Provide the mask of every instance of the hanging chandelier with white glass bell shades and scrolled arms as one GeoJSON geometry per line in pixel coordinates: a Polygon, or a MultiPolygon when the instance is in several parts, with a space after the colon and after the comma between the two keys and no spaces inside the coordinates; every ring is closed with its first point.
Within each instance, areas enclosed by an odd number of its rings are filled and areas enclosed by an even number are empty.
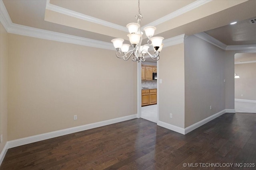
{"type": "Polygon", "coordinates": [[[142,34],[143,32],[140,30],[140,21],[142,20],[142,15],[140,14],[140,0],[138,0],[138,8],[139,8],[139,15],[136,15],[135,18],[137,19],[137,23],[128,23],[126,27],[129,30],[129,37],[130,43],[132,45],[132,50],[129,51],[129,44],[123,44],[124,39],[116,38],[112,39],[111,42],[114,44],[116,48],[116,57],[123,58],[125,61],[130,59],[133,54],[132,61],[140,62],[145,61],[145,55],[148,54],[153,60],[159,60],[159,53],[162,50],[164,44],[162,44],[163,37],[153,37],[156,27],[145,27],[143,30],[148,37],[148,44],[141,45],[142,43],[142,34]],[[154,55],[151,55],[148,52],[148,48],[150,46],[154,47],[154,55]],[[121,56],[121,51],[124,54],[121,56]]]}

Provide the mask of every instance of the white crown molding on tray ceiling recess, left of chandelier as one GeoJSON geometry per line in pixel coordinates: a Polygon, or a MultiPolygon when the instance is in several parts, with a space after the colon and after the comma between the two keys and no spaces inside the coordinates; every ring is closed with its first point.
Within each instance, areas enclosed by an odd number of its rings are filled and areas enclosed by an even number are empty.
{"type": "Polygon", "coordinates": [[[128,29],[124,26],[121,26],[121,25],[118,25],[118,24],[115,24],[115,23],[111,23],[111,22],[108,22],[108,21],[100,20],[100,19],[94,18],[92,16],[87,16],[87,15],[81,14],[79,12],[75,12],[75,11],[72,11],[72,10],[68,10],[66,8],[62,8],[60,6],[50,4],[50,0],[46,0],[46,9],[47,10],[52,10],[52,11],[55,11],[55,12],[58,12],[58,13],[61,13],[61,14],[64,14],[64,15],[72,16],[72,17],[75,17],[75,18],[78,18],[78,19],[81,19],[81,20],[97,23],[97,24],[100,24],[100,25],[104,25],[104,26],[107,26],[107,27],[111,27],[111,28],[114,28],[114,29],[118,29],[118,30],[121,30],[121,31],[128,32],[128,29]]]}

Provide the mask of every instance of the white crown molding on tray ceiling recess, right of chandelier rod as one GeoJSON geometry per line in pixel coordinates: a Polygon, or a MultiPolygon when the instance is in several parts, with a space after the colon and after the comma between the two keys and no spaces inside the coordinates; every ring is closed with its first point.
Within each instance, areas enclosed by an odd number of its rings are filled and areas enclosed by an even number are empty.
{"type": "Polygon", "coordinates": [[[164,22],[171,20],[172,18],[175,18],[177,16],[180,16],[190,10],[198,8],[199,6],[202,6],[210,1],[212,1],[212,0],[197,0],[195,2],[192,2],[191,4],[188,4],[187,6],[184,6],[184,7],[180,8],[162,18],[159,18],[158,20],[148,23],[147,25],[143,26],[142,29],[144,29],[144,27],[156,26],[156,25],[159,25],[160,23],[164,23],[164,22]]]}

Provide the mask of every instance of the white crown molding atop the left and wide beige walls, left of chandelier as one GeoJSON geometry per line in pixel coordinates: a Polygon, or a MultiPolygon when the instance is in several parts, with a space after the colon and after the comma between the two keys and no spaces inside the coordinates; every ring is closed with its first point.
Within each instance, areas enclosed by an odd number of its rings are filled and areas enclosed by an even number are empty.
{"type": "Polygon", "coordinates": [[[48,39],[52,41],[60,41],[64,43],[84,45],[88,47],[96,47],[96,48],[108,49],[108,50],[114,50],[114,51],[116,50],[114,49],[112,43],[12,23],[12,20],[2,0],[0,0],[0,5],[1,5],[0,21],[8,33],[25,35],[25,36],[35,37],[40,39],[48,39]]]}

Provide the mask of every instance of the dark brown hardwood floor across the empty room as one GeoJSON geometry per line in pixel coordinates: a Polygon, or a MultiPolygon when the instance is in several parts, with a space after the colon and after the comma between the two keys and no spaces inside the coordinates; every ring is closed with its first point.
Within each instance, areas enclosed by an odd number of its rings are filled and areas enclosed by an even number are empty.
{"type": "Polygon", "coordinates": [[[244,167],[250,163],[256,163],[256,114],[225,113],[186,135],[132,119],[23,145],[8,149],[0,169],[255,170],[244,167]]]}

